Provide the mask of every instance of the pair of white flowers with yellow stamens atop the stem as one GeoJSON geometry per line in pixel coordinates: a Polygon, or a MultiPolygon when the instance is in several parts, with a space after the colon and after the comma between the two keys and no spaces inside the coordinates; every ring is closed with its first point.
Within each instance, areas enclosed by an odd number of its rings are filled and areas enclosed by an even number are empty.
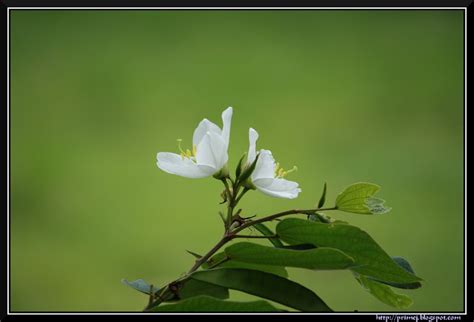
{"type": "MultiPolygon", "coordinates": [[[[208,119],[202,120],[194,130],[192,150],[184,151],[180,146],[181,154],[159,152],[156,156],[158,167],[186,178],[205,178],[220,172],[229,159],[232,112],[232,107],[222,112],[222,130],[208,119]]],[[[246,166],[255,161],[257,139],[257,131],[250,128],[246,166]]],[[[262,149],[250,179],[258,190],[269,196],[294,199],[301,189],[298,183],[283,178],[290,171],[284,171],[275,163],[271,151],[262,149]]]]}

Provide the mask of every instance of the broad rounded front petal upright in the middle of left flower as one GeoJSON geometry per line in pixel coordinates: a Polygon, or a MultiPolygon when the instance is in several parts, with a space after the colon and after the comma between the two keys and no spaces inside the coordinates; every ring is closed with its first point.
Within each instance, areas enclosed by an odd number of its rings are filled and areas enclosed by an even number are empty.
{"type": "Polygon", "coordinates": [[[213,168],[217,172],[227,163],[228,154],[222,137],[207,132],[197,146],[196,163],[213,168]]]}

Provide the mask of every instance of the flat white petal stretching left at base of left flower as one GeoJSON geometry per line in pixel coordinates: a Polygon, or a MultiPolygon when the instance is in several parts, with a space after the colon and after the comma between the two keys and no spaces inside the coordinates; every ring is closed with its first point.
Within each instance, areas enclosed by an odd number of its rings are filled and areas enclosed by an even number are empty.
{"type": "Polygon", "coordinates": [[[156,155],[156,165],[163,171],[186,178],[205,178],[212,175],[213,169],[198,166],[188,158],[179,154],[159,152],[156,155]]]}

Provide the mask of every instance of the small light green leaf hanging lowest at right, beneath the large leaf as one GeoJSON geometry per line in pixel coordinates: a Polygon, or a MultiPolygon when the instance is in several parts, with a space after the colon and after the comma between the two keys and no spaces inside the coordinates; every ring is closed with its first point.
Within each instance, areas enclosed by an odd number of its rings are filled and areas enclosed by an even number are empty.
{"type": "Polygon", "coordinates": [[[370,294],[387,305],[406,309],[413,304],[413,300],[410,297],[395,293],[390,286],[369,279],[364,275],[356,276],[356,279],[370,294]]]}

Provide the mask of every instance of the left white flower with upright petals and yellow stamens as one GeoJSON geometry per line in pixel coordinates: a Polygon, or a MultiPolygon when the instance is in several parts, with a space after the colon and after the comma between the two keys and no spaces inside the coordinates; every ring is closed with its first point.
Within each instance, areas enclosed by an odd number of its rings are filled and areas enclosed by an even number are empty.
{"type": "Polygon", "coordinates": [[[231,120],[232,107],[222,112],[222,130],[208,119],[202,120],[194,130],[192,151],[183,151],[180,145],[181,154],[159,152],[156,164],[165,172],[186,178],[205,178],[217,173],[229,158],[231,120]]]}

